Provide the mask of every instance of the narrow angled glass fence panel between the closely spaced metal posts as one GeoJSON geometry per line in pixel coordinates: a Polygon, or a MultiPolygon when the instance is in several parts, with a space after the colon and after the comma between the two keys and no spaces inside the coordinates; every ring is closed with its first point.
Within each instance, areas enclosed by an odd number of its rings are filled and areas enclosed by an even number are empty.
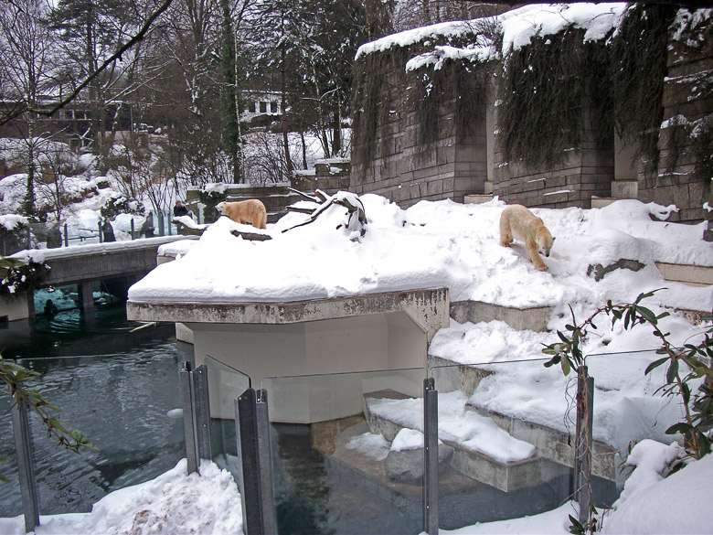
{"type": "Polygon", "coordinates": [[[250,377],[208,355],[204,363],[208,368],[210,442],[213,461],[237,477],[239,471],[234,400],[250,388],[250,377]]]}

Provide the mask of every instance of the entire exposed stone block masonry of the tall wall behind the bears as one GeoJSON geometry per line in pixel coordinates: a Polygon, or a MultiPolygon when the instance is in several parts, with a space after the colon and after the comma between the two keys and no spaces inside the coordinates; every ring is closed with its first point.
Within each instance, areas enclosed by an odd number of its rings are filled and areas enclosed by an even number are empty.
{"type": "MultiPolygon", "coordinates": [[[[414,48],[414,55],[421,49],[414,48]]],[[[448,64],[442,67],[448,68],[448,64]]],[[[698,120],[713,115],[713,99],[701,90],[710,84],[711,72],[713,40],[702,39],[697,48],[671,41],[660,160],[654,172],[647,173],[645,162],[634,157],[635,147],[623,146],[613,132],[602,141],[586,107],[582,110],[580,147],[572,148],[561,164],[531,168],[505,161],[498,146],[495,82],[486,91],[484,116],[467,117],[465,121],[455,86],[439,88],[450,92],[435,113],[437,134],[425,143],[419,112],[406,96],[413,73],[396,69],[389,74],[388,91],[380,95],[379,105],[388,113],[377,113],[375,139],[367,142],[371,146],[360,144],[357,133],[353,136],[350,189],[357,194],[378,193],[407,208],[421,199],[463,201],[466,195],[486,193],[485,187],[490,192],[492,184],[492,193],[508,203],[589,209],[592,198],[616,198],[615,193],[621,190],[615,187],[612,191],[616,180],[618,184],[627,183],[625,198],[676,204],[680,210],[669,220],[699,221],[706,217],[704,202],[713,205],[711,177],[701,176],[703,156],[691,131],[698,120]],[[671,121],[675,118],[680,119],[679,124],[666,127],[675,123],[671,121]],[[669,136],[681,133],[691,139],[691,144],[671,151],[669,136]]],[[[358,108],[359,102],[356,104],[358,108]]]]}

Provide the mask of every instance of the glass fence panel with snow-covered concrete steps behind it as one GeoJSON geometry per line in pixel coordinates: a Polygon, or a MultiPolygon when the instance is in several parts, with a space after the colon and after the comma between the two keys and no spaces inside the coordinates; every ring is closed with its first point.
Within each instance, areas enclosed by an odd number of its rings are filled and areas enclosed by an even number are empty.
{"type": "Polygon", "coordinates": [[[571,496],[576,379],[546,360],[430,369],[439,392],[439,525],[517,519],[571,496]]]}

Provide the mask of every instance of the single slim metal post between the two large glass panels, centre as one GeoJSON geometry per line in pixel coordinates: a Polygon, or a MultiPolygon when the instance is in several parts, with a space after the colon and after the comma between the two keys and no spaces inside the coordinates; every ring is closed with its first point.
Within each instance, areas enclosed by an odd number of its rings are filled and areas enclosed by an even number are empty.
{"type": "Polygon", "coordinates": [[[438,534],[438,391],[423,380],[423,528],[438,534]]]}

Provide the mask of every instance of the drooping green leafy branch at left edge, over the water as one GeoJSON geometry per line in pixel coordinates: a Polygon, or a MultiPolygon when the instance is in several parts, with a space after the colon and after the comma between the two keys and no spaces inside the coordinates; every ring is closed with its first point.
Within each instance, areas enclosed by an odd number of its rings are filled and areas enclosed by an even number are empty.
{"type": "MultiPolygon", "coordinates": [[[[67,427],[68,422],[59,420],[58,413],[62,411],[59,407],[50,405],[38,391],[27,386],[39,375],[37,371],[0,357],[0,382],[5,384],[6,393],[13,402],[26,402],[30,412],[39,418],[48,436],[60,446],[75,453],[79,453],[82,447],[91,447],[90,440],[86,436],[79,431],[70,430],[67,427]]],[[[5,460],[0,459],[0,462],[5,460]]],[[[7,478],[0,474],[0,481],[7,481],[7,478]]]]}

